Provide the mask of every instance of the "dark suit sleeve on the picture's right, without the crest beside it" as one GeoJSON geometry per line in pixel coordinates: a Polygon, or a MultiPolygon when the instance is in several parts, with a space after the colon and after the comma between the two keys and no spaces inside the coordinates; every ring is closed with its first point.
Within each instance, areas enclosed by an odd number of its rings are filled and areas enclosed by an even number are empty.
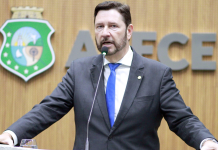
{"type": "Polygon", "coordinates": [[[160,104],[170,130],[188,145],[199,149],[202,140],[214,138],[202,122],[193,115],[191,109],[185,105],[173,81],[170,68],[166,68],[162,77],[160,104]]]}

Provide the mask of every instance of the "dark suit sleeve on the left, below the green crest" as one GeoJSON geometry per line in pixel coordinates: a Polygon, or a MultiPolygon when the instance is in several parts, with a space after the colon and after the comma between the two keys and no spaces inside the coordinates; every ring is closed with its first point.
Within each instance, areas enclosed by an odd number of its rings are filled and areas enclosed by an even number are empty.
{"type": "Polygon", "coordinates": [[[73,107],[74,76],[73,63],[62,82],[58,84],[51,95],[46,96],[32,110],[12,124],[7,130],[13,131],[18,143],[21,139],[33,138],[54,122],[62,118],[73,107]]]}

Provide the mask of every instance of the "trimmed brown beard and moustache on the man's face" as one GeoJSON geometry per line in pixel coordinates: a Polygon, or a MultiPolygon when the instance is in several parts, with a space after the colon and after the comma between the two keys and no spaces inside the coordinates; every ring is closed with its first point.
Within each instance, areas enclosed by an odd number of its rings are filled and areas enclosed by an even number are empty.
{"type": "Polygon", "coordinates": [[[96,43],[96,46],[97,46],[98,51],[100,53],[101,53],[102,45],[105,42],[110,42],[111,44],[113,44],[115,49],[108,51],[108,53],[107,53],[107,56],[110,56],[110,55],[113,55],[113,54],[117,53],[118,51],[122,50],[126,46],[126,43],[127,43],[126,40],[127,40],[127,33],[125,32],[125,35],[121,38],[121,41],[119,43],[114,41],[114,40],[109,40],[108,37],[103,38],[103,40],[100,41],[100,43],[98,43],[96,38],[95,38],[95,43],[96,43]]]}

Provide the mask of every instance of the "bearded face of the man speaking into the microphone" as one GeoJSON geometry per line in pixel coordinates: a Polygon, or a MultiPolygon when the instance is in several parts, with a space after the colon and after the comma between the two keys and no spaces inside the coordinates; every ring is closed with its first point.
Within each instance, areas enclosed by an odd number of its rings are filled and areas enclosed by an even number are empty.
{"type": "Polygon", "coordinates": [[[95,18],[95,41],[98,50],[108,47],[108,56],[122,50],[127,43],[127,30],[121,14],[115,10],[100,10],[95,18]]]}

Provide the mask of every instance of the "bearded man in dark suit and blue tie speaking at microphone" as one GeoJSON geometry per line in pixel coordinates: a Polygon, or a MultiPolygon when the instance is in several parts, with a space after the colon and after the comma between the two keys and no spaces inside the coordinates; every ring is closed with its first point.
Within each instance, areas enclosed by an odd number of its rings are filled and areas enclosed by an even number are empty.
{"type": "Polygon", "coordinates": [[[15,144],[22,138],[32,138],[74,107],[74,149],[83,150],[92,98],[104,62],[89,125],[90,150],[158,150],[157,129],[163,117],[190,146],[218,150],[213,135],[184,104],[171,69],[130,47],[133,25],[129,6],[103,2],[96,6],[94,16],[97,47],[108,47],[104,61],[98,55],[72,62],[53,93],[10,126],[0,141],[13,145],[12,136],[18,140],[15,144]],[[116,69],[112,69],[114,65],[116,69]]]}

